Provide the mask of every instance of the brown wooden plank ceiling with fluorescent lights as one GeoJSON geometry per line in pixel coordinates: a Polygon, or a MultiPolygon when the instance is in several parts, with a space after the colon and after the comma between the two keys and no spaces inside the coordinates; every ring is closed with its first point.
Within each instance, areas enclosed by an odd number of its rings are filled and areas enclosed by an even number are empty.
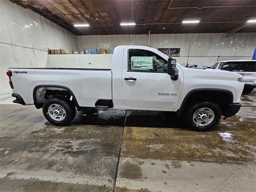
{"type": "Polygon", "coordinates": [[[256,32],[255,23],[246,23],[256,18],[256,0],[10,1],[76,35],[256,32]],[[182,24],[183,20],[200,23],[182,24]],[[136,26],[120,26],[121,22],[136,26]],[[90,26],[73,26],[80,23],[90,26]]]}

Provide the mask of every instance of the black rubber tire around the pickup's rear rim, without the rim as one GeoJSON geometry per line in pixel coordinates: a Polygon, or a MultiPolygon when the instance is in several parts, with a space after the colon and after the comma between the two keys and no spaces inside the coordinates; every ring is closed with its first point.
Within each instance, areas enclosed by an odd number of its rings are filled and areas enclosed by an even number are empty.
{"type": "Polygon", "coordinates": [[[46,100],[46,102],[43,104],[43,114],[44,117],[50,122],[51,124],[57,125],[57,126],[64,126],[69,124],[76,115],[76,110],[74,107],[72,107],[71,104],[67,103],[66,101],[60,99],[60,98],[50,98],[46,100]],[[50,114],[48,113],[48,108],[52,104],[58,104],[65,110],[65,116],[63,120],[54,120],[50,114]]]}

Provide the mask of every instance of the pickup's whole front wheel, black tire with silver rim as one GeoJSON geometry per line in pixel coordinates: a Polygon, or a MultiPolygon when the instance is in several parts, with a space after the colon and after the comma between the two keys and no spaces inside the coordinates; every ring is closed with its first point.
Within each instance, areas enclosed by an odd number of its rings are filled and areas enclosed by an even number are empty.
{"type": "Polygon", "coordinates": [[[188,127],[205,131],[218,124],[221,118],[220,107],[213,102],[200,102],[189,108],[186,114],[188,127]]]}

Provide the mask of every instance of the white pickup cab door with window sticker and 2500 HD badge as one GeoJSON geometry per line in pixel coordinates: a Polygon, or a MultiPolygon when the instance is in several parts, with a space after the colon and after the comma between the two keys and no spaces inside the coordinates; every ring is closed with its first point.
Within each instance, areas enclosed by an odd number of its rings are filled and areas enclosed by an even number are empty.
{"type": "Polygon", "coordinates": [[[172,81],[167,60],[152,49],[126,48],[122,71],[122,100],[130,107],[174,109],[182,90],[182,77],[172,81]]]}

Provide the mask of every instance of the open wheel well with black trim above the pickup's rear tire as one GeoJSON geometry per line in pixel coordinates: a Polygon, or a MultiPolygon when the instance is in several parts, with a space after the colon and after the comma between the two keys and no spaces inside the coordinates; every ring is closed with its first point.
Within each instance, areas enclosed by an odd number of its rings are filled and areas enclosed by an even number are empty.
{"type": "Polygon", "coordinates": [[[33,91],[34,105],[36,108],[42,108],[43,103],[49,98],[62,98],[70,103],[73,103],[77,110],[81,107],[73,94],[73,92],[64,86],[36,86],[33,91]]]}

